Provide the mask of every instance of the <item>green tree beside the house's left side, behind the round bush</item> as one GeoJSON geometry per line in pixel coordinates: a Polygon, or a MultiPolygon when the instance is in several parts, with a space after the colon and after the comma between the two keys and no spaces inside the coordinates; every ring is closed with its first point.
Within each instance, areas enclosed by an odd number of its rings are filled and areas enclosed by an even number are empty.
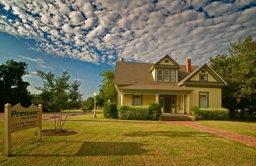
{"type": "Polygon", "coordinates": [[[116,103],[117,100],[117,93],[113,83],[115,77],[114,70],[105,70],[104,72],[100,73],[99,77],[103,77],[101,80],[102,84],[99,86],[99,97],[103,100],[104,103],[114,102],[116,103]]]}

